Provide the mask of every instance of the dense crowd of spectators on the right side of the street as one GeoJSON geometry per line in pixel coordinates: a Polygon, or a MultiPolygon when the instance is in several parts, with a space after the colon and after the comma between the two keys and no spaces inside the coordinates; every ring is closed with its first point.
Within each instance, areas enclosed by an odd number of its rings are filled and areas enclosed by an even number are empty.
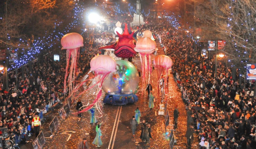
{"type": "Polygon", "coordinates": [[[194,41],[184,41],[175,29],[163,29],[159,39],[173,60],[173,75],[187,104],[187,134],[194,133],[200,148],[256,148],[254,81],[239,84],[239,73],[232,74],[221,62],[215,77],[214,57],[202,57],[194,41]]]}

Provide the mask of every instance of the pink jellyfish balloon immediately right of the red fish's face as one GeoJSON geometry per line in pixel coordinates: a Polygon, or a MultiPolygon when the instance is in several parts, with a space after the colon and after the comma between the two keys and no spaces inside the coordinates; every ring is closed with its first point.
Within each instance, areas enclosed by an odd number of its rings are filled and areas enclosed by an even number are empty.
{"type": "MultiPolygon", "coordinates": [[[[151,32],[150,32],[151,33],[151,32]]],[[[134,48],[136,52],[139,52],[140,59],[141,59],[141,67],[142,67],[142,82],[143,85],[145,81],[150,81],[150,74],[151,70],[151,54],[158,50],[156,48],[156,43],[149,37],[140,38],[137,43],[136,47],[134,48]]],[[[144,89],[145,90],[145,89],[144,89]]]]}

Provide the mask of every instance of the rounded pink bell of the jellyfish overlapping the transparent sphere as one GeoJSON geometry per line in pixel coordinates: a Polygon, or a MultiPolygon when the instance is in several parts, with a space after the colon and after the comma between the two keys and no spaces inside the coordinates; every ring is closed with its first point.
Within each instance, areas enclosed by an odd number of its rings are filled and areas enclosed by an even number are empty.
{"type": "Polygon", "coordinates": [[[91,71],[98,74],[114,72],[116,70],[115,60],[108,55],[98,55],[92,58],[90,62],[91,71]]]}

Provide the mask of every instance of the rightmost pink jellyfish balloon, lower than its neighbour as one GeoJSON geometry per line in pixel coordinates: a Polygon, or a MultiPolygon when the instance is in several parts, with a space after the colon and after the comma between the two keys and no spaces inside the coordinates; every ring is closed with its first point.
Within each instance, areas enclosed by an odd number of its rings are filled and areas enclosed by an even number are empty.
{"type": "MultiPolygon", "coordinates": [[[[164,82],[167,82],[168,77],[168,69],[170,69],[173,65],[173,61],[169,56],[166,55],[157,55],[153,60],[153,65],[157,71],[157,80],[158,80],[158,98],[159,98],[159,84],[161,76],[163,75],[164,82]]],[[[165,84],[163,84],[165,88],[165,84]]],[[[165,88],[166,89],[166,88],[165,88]]],[[[160,101],[160,100],[159,100],[160,101]]]]}

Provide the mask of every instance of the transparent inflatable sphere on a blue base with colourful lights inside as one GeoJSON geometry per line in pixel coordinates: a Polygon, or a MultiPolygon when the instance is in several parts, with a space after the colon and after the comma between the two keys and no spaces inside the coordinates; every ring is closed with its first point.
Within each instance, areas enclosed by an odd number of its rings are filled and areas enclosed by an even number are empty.
{"type": "Polygon", "coordinates": [[[110,73],[102,85],[102,89],[106,92],[103,103],[133,104],[138,101],[138,97],[134,94],[138,83],[139,74],[135,66],[125,60],[116,60],[116,72],[110,73]]]}

